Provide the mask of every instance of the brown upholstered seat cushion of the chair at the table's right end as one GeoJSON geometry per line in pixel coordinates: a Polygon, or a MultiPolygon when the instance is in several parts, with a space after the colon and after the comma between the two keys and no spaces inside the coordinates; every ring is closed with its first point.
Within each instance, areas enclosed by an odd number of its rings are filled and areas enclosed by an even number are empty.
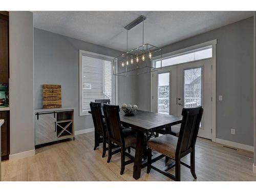
{"type": "Polygon", "coordinates": [[[167,157],[175,159],[178,137],[165,134],[147,141],[147,147],[167,157]]]}

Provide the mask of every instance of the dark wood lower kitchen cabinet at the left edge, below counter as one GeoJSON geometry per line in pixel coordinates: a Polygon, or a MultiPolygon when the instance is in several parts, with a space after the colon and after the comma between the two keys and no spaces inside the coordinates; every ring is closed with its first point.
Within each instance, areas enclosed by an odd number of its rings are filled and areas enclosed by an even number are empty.
{"type": "Polygon", "coordinates": [[[1,127],[1,156],[2,161],[9,159],[10,155],[10,113],[9,111],[0,111],[0,119],[5,122],[1,127]]]}

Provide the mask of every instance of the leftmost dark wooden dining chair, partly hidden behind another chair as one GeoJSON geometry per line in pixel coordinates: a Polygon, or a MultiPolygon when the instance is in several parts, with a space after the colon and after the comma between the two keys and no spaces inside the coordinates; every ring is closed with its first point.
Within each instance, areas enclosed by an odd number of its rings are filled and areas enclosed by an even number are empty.
{"type": "Polygon", "coordinates": [[[93,124],[94,124],[94,150],[102,142],[103,152],[102,157],[106,154],[106,124],[103,121],[101,112],[101,104],[99,102],[90,102],[90,108],[92,112],[93,124]]]}

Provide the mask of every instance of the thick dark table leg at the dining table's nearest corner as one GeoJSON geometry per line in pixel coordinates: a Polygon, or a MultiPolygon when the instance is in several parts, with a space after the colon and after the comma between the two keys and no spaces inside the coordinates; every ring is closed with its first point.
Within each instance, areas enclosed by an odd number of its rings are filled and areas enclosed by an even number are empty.
{"type": "Polygon", "coordinates": [[[136,151],[135,151],[135,160],[133,166],[133,178],[139,179],[141,172],[141,162],[142,162],[142,154],[144,148],[144,133],[137,133],[137,142],[136,142],[136,151]]]}

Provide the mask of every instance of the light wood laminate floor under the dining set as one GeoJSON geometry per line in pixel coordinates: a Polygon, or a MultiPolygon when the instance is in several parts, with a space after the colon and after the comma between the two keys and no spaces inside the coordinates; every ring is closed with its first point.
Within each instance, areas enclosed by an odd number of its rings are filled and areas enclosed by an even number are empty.
{"type": "MultiPolygon", "coordinates": [[[[56,143],[38,148],[36,155],[2,163],[3,181],[135,181],[133,164],[126,165],[120,175],[120,153],[106,163],[102,145],[93,151],[94,133],[76,136],[76,140],[56,143]]],[[[132,152],[133,153],[133,152],[132,152]]],[[[189,164],[189,155],[182,159],[189,164]]],[[[164,166],[164,159],[156,162],[164,166]]],[[[181,165],[181,181],[256,181],[252,173],[253,153],[233,151],[205,139],[196,144],[196,174],[181,165]]],[[[170,170],[174,173],[174,169],[170,170]]],[[[146,174],[142,169],[137,181],[172,181],[155,170],[146,174]]]]}

